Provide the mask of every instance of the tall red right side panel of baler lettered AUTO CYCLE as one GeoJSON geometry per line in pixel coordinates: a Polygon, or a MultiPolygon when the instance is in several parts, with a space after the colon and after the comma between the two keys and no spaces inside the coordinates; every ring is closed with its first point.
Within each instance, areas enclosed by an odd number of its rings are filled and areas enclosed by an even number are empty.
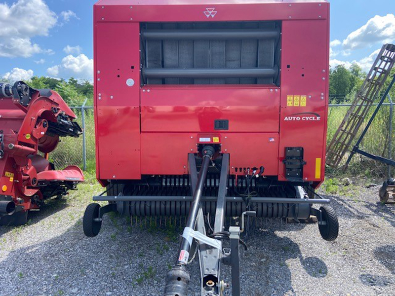
{"type": "Polygon", "coordinates": [[[284,21],[282,30],[278,179],[286,180],[285,147],[303,147],[303,179],[320,182],[328,105],[328,21],[284,21]]]}

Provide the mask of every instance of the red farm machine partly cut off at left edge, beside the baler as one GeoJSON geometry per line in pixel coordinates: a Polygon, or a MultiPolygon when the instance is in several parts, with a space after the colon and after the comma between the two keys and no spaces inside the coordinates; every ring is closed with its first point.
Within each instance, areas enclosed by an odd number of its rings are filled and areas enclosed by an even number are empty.
{"type": "Polygon", "coordinates": [[[29,210],[83,182],[77,166],[55,170],[48,155],[59,137],[79,137],[76,114],[60,95],[22,81],[0,83],[0,224],[23,225],[29,210]]]}

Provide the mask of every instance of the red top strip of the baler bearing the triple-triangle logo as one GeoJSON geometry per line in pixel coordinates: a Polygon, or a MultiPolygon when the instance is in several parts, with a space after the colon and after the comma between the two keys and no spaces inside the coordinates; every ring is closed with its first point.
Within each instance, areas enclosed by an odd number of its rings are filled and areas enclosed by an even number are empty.
{"type": "Polygon", "coordinates": [[[95,8],[98,22],[205,22],[324,19],[329,3],[316,1],[102,1],[95,8]],[[171,4],[171,5],[168,5],[171,4]],[[242,4],[242,5],[240,5],[242,4]],[[215,15],[204,12],[215,8],[215,15]]]}

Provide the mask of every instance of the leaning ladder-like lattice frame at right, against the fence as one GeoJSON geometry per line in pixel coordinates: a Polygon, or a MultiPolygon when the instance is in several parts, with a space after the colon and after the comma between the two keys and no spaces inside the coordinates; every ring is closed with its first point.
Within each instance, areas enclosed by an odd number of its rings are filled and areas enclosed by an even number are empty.
{"type": "Polygon", "coordinates": [[[346,152],[350,149],[356,133],[362,125],[370,107],[395,64],[395,45],[383,45],[361,89],[347,111],[342,123],[330,142],[326,152],[326,164],[339,167],[346,152]]]}

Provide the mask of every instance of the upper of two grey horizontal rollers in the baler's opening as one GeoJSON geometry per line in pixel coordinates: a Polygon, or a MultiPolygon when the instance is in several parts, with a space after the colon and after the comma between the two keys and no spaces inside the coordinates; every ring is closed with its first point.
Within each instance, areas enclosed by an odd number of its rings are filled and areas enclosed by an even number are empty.
{"type": "Polygon", "coordinates": [[[213,30],[145,30],[141,36],[146,40],[234,40],[277,39],[279,29],[213,29],[213,30]]]}

